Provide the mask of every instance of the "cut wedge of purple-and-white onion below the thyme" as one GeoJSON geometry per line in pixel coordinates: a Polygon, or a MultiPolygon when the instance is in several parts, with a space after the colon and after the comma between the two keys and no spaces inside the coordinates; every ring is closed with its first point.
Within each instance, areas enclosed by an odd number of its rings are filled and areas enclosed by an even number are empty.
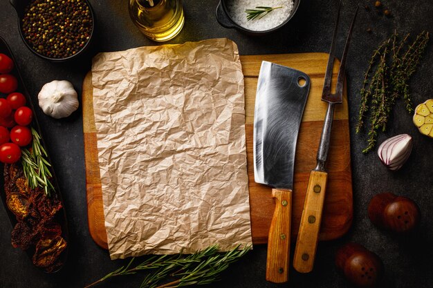
{"type": "Polygon", "coordinates": [[[405,164],[412,152],[412,137],[407,134],[396,135],[385,140],[378,148],[380,161],[392,171],[405,164]]]}

